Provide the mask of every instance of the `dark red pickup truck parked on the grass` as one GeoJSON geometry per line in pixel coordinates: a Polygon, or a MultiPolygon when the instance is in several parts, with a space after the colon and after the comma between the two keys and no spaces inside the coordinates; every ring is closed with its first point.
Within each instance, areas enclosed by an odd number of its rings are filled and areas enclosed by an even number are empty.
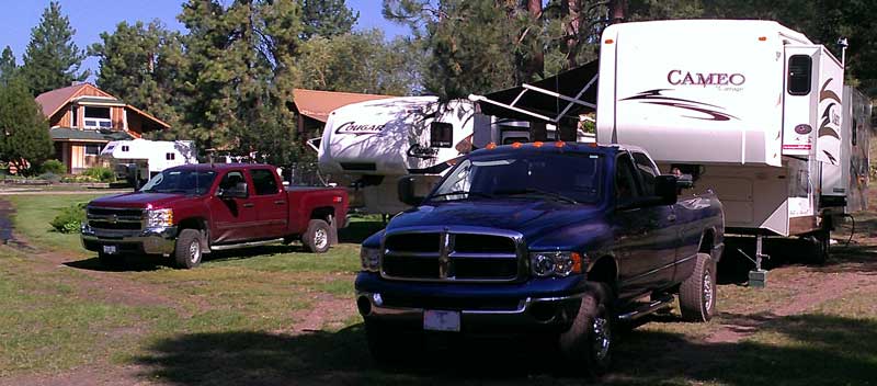
{"type": "Polygon", "coordinates": [[[348,205],[344,189],[284,188],[270,164],[186,164],[137,192],[90,202],[82,246],[106,265],[148,254],[186,269],[210,251],[277,241],[300,239],[321,253],[338,242],[348,205]]]}

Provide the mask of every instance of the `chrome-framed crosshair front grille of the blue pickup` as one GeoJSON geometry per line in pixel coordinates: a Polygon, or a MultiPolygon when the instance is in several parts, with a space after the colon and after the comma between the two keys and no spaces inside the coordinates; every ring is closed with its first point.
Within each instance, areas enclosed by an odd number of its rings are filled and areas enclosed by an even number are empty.
{"type": "Polygon", "coordinates": [[[391,234],[381,275],[390,280],[512,282],[523,272],[521,237],[454,231],[391,234]]]}

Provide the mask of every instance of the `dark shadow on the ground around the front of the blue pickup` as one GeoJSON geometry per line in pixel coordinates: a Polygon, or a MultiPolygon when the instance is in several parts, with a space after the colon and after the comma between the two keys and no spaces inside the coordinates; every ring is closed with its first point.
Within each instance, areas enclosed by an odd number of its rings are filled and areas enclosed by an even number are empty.
{"type": "MultiPolygon", "coordinates": [[[[748,318],[748,316],[739,316],[748,318]]],[[[671,332],[634,330],[620,338],[608,384],[854,384],[877,379],[877,323],[833,316],[775,317],[762,331],[778,338],[705,343],[671,332]],[[778,342],[768,344],[767,342],[778,342]]],[[[362,325],[300,336],[265,332],[183,334],[136,357],[145,379],[174,385],[581,384],[557,377],[553,351],[521,340],[471,341],[412,355],[378,370],[362,325]]]]}

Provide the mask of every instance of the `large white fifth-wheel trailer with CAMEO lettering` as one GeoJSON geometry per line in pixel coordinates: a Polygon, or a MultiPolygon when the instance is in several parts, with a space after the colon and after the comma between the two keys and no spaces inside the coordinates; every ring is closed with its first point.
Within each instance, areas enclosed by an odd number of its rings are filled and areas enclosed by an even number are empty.
{"type": "Polygon", "coordinates": [[[816,241],[867,203],[870,104],[824,46],[770,21],[623,23],[602,37],[597,141],[715,191],[728,232],[816,241]]]}

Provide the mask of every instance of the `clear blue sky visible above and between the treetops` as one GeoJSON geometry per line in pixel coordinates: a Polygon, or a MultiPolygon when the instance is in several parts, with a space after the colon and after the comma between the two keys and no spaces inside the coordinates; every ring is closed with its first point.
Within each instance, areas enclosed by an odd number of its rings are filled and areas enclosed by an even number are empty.
{"type": "MultiPolygon", "coordinates": [[[[224,0],[230,2],[231,0],[224,0]]],[[[128,23],[138,20],[161,20],[168,27],[181,30],[183,25],[176,21],[183,0],[60,0],[61,11],[70,19],[76,29],[73,41],[80,48],[86,48],[100,41],[104,31],[115,31],[122,21],[128,23]]],[[[0,12],[0,49],[7,45],[18,57],[21,57],[31,39],[31,29],[39,22],[48,0],[4,0],[0,12]]],[[[408,27],[390,23],[380,15],[380,0],[348,0],[348,7],[360,11],[357,30],[379,29],[388,38],[408,34],[408,27]]],[[[89,58],[84,67],[92,71],[98,69],[98,60],[89,58]]]]}

